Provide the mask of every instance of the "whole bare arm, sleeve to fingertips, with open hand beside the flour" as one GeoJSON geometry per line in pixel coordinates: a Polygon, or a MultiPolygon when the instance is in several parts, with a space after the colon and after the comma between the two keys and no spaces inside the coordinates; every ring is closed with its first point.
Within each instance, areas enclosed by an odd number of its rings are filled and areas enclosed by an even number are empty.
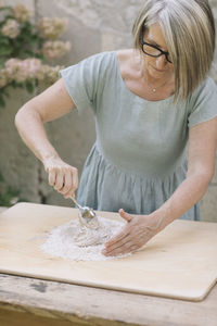
{"type": "Polygon", "coordinates": [[[215,172],[217,117],[190,129],[187,178],[173,196],[150,215],[132,216],[119,211],[128,223],[120,234],[105,243],[105,255],[141,248],[169,223],[183,215],[206,192],[215,172]]]}

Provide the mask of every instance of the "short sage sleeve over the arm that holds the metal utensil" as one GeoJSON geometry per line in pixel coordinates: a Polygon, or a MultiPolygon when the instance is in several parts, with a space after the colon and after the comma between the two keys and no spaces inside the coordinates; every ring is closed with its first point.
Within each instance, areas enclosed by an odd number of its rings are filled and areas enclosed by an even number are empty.
{"type": "Polygon", "coordinates": [[[66,90],[78,112],[91,108],[95,112],[95,98],[101,91],[108,53],[91,55],[60,72],[66,90]]]}

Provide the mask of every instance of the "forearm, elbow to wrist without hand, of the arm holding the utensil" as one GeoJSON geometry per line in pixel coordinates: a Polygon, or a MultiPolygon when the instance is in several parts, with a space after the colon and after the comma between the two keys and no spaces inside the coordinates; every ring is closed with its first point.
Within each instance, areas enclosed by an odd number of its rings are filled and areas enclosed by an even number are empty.
{"type": "Polygon", "coordinates": [[[30,104],[25,104],[17,112],[15,125],[23,141],[41,162],[52,156],[59,156],[48,139],[40,115],[30,104]]]}

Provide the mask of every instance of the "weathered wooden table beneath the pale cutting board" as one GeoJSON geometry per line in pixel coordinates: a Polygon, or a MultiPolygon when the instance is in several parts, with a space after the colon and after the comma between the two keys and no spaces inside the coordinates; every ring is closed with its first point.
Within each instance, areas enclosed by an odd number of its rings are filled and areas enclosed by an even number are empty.
{"type": "Polygon", "coordinates": [[[217,326],[217,285],[201,302],[0,274],[1,326],[217,326]]]}

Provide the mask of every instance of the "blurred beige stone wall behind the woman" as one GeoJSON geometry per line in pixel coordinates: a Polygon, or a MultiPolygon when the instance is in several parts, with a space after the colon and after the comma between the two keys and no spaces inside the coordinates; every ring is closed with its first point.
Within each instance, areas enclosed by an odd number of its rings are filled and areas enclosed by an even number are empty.
{"type": "MultiPolygon", "coordinates": [[[[4,0],[4,4],[23,2],[39,16],[68,18],[68,29],[64,39],[71,40],[72,50],[61,60],[71,65],[88,55],[106,50],[128,48],[132,45],[131,25],[142,4],[141,0],[4,0]]],[[[210,4],[217,18],[217,1],[210,4]]],[[[217,55],[215,63],[217,61],[217,55]]],[[[212,71],[217,78],[217,65],[212,71]]],[[[0,111],[0,172],[8,184],[20,189],[21,197],[30,202],[71,205],[61,195],[48,186],[41,163],[24,146],[14,127],[14,115],[29,99],[24,90],[11,91],[5,110],[0,111]]],[[[94,141],[94,123],[89,111],[78,116],[69,113],[47,125],[51,142],[63,160],[77,166],[81,172],[85,159],[94,141]]],[[[217,222],[217,173],[202,200],[204,221],[217,222]]]]}

